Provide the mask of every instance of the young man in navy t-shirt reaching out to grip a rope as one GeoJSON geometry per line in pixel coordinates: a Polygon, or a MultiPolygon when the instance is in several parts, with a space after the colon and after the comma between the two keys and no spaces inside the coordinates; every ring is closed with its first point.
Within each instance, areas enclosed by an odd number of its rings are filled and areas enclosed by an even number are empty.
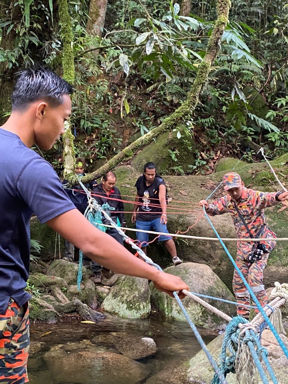
{"type": "MultiPolygon", "coordinates": [[[[70,84],[48,68],[18,73],[12,113],[0,128],[0,382],[28,382],[31,215],[106,268],[154,281],[159,290],[189,289],[96,229],[76,209],[52,166],[30,149],[50,149],[71,114],[70,84]],[[81,229],[79,229],[81,228],[81,229]]],[[[180,297],[184,297],[180,293],[180,297]]]]}

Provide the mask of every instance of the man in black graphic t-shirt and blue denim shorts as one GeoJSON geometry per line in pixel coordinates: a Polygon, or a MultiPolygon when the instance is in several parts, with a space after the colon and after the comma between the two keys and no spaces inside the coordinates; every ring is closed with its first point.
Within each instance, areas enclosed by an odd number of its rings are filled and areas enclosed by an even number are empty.
{"type": "MultiPolygon", "coordinates": [[[[144,173],[136,181],[135,187],[137,188],[137,196],[132,214],[132,223],[136,223],[137,229],[146,231],[153,229],[155,232],[169,233],[167,230],[166,184],[161,177],[156,175],[154,163],[149,162],[144,165],[144,173]]],[[[137,232],[137,240],[146,253],[149,233],[137,232]]],[[[158,241],[164,242],[175,265],[182,263],[177,256],[175,243],[171,236],[160,235],[158,241]]]]}

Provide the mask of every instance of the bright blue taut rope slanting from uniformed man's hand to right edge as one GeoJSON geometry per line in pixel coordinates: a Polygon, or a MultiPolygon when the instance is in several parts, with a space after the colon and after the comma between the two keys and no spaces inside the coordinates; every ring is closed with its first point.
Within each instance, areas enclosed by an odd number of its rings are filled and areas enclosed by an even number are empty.
{"type": "Polygon", "coordinates": [[[218,237],[218,240],[220,241],[222,247],[224,248],[225,252],[227,253],[228,257],[230,258],[235,270],[238,272],[239,276],[242,278],[242,281],[245,285],[245,287],[247,288],[248,292],[250,293],[250,296],[252,297],[254,303],[256,304],[258,310],[261,312],[263,318],[265,319],[266,323],[268,324],[269,328],[271,329],[271,331],[273,332],[273,335],[275,336],[276,340],[278,341],[280,347],[282,348],[283,352],[285,353],[285,356],[286,358],[288,358],[288,349],[286,348],[285,344],[283,343],[283,341],[281,340],[280,336],[278,335],[275,327],[273,326],[273,324],[271,323],[271,321],[269,320],[268,316],[266,315],[266,312],[263,310],[263,307],[261,306],[261,304],[259,303],[257,297],[255,296],[254,292],[252,291],[250,285],[247,283],[247,281],[245,280],[242,272],[240,271],[240,269],[238,268],[237,264],[235,263],[235,261],[233,260],[233,257],[231,256],[230,252],[228,251],[226,245],[223,243],[223,240],[222,238],[219,236],[217,230],[215,229],[214,225],[212,224],[209,216],[207,215],[206,211],[205,211],[205,207],[203,206],[203,210],[204,210],[204,214],[207,218],[207,220],[209,221],[212,229],[214,230],[215,232],[215,235],[218,237]]]}

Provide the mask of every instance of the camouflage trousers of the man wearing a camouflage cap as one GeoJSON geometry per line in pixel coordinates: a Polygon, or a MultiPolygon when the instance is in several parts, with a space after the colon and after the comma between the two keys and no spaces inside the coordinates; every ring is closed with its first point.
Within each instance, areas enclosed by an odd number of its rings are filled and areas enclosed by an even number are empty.
{"type": "MultiPolygon", "coordinates": [[[[238,268],[262,306],[268,304],[265,287],[263,285],[263,271],[267,264],[268,256],[269,253],[263,253],[262,260],[254,262],[253,264],[243,260],[239,255],[237,255],[236,258],[238,268]]],[[[238,303],[237,314],[238,316],[248,318],[250,309],[241,304],[250,305],[250,293],[236,270],[234,270],[232,286],[238,303]]],[[[255,310],[255,312],[258,313],[259,311],[255,310]]]]}

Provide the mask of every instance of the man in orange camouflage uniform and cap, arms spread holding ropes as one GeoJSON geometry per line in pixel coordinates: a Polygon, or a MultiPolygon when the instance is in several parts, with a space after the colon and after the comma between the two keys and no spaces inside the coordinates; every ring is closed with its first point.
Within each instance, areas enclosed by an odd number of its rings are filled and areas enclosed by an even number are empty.
{"type": "MultiPolygon", "coordinates": [[[[276,237],[275,233],[267,226],[263,209],[287,200],[288,192],[270,193],[248,189],[240,175],[235,172],[224,175],[223,186],[227,195],[213,204],[208,204],[206,200],[199,202],[200,206],[204,205],[207,214],[214,216],[230,213],[237,237],[250,238],[251,235],[254,238],[276,237]]],[[[236,264],[262,306],[267,304],[263,271],[269,253],[275,248],[275,245],[276,241],[274,240],[259,243],[237,242],[236,264]],[[258,252],[259,250],[260,252],[258,252]],[[252,257],[255,252],[258,252],[258,258],[252,257]]],[[[249,308],[241,306],[241,304],[250,305],[250,294],[236,270],[234,270],[232,284],[238,303],[237,314],[248,319],[249,308]]]]}

